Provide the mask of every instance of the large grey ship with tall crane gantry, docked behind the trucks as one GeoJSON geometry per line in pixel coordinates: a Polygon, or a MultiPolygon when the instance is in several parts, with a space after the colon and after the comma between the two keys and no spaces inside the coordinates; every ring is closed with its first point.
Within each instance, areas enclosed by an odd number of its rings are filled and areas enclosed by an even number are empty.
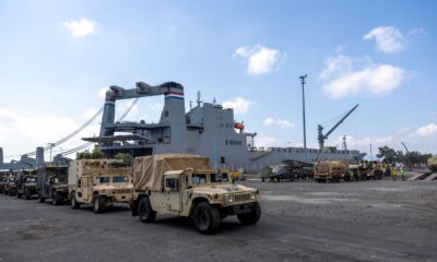
{"type": "Polygon", "coordinates": [[[118,152],[133,156],[190,153],[210,157],[214,167],[259,170],[265,165],[294,159],[306,163],[319,159],[354,159],[358,151],[336,147],[316,148],[255,146],[256,133],[247,133],[234,120],[234,110],[215,103],[201,103],[185,111],[184,86],[175,82],[151,86],[143,82],[135,88],[110,86],[106,93],[99,136],[83,139],[98,143],[109,157],[118,152]],[[158,123],[115,122],[116,102],[128,98],[163,96],[164,108],[158,123]],[[235,129],[237,128],[237,129],[235,129]],[[320,153],[319,153],[320,152],[320,153]]]}

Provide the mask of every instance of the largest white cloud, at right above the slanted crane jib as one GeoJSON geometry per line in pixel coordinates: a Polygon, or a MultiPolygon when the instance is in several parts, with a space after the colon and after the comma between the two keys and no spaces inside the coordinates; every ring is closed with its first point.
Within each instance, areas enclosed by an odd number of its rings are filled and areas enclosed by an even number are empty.
{"type": "Polygon", "coordinates": [[[333,98],[370,94],[381,96],[402,85],[409,72],[391,64],[377,64],[370,59],[344,55],[328,58],[319,75],[323,91],[333,98]]]}

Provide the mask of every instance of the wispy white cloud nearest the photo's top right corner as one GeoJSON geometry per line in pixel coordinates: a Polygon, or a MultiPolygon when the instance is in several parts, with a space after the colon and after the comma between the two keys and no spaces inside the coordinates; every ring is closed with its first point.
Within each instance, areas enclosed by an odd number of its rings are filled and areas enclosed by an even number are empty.
{"type": "Polygon", "coordinates": [[[423,28],[413,28],[404,35],[394,26],[379,26],[363,36],[363,39],[375,40],[379,51],[394,53],[405,49],[409,41],[423,34],[425,34],[423,28]]]}

